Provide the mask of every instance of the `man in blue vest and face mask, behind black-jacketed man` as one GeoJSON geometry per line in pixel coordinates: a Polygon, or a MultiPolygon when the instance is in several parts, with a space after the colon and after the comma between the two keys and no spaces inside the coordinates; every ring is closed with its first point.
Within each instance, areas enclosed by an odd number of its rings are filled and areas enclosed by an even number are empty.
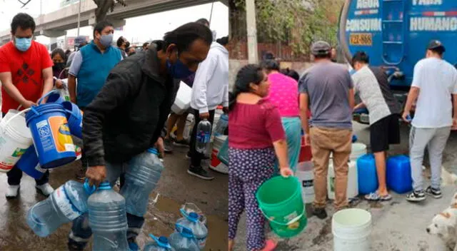
{"type": "MultiPolygon", "coordinates": [[[[84,111],[104,86],[109,72],[121,61],[121,52],[111,46],[114,27],[108,21],[101,21],[94,27],[94,40],[75,53],[69,70],[69,94],[71,102],[84,111]],[[83,63],[84,62],[84,63],[83,63]],[[78,88],[76,89],[76,78],[78,88]]],[[[84,149],[82,167],[76,178],[84,179],[87,163],[84,149]]]]}

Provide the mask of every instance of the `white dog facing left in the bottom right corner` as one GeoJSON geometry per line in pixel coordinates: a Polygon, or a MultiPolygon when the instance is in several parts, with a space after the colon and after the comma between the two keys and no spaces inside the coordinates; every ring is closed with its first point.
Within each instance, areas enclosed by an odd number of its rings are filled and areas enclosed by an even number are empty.
{"type": "Polygon", "coordinates": [[[446,247],[457,251],[457,204],[451,205],[443,212],[433,217],[432,222],[426,228],[430,235],[437,235],[443,240],[446,247]]]}

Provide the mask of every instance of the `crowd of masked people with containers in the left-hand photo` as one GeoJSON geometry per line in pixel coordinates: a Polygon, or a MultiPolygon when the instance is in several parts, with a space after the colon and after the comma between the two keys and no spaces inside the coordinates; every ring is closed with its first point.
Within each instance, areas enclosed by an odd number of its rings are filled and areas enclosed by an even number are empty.
{"type": "MultiPolygon", "coordinates": [[[[84,112],[81,170],[76,176],[90,185],[103,181],[114,185],[120,178],[122,187],[131,158],[151,147],[164,155],[163,138],[170,140],[164,126],[181,81],[194,83],[190,112],[196,125],[201,119],[212,123],[216,106],[229,106],[228,37],[214,41],[206,19],[144,43],[139,52],[124,37],[116,41],[117,47],[112,45],[114,26],[109,21],[94,26],[93,40],[77,37],[74,52],[56,48],[51,54],[34,41],[35,27],[31,16],[17,14],[11,22],[12,41],[0,47],[2,113],[36,106],[53,88],[63,88],[61,79],[68,78],[70,100],[84,112]]],[[[176,141],[189,147],[182,137],[176,141]]],[[[188,173],[212,179],[201,167],[203,156],[192,149],[188,173]]],[[[6,197],[17,198],[22,172],[14,167],[7,175],[6,197]]],[[[53,193],[49,172],[36,180],[36,188],[44,195],[53,193]]],[[[144,217],[129,212],[126,217],[129,247],[138,250],[136,236],[144,217]]],[[[86,247],[92,234],[87,220],[87,214],[74,220],[69,250],[86,247]]]]}

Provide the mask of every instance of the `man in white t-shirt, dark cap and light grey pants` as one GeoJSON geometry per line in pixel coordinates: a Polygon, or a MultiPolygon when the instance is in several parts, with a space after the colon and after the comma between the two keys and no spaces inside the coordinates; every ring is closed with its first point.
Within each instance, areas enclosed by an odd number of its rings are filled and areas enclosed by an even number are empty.
{"type": "Polygon", "coordinates": [[[443,150],[451,128],[457,129],[457,70],[443,60],[445,51],[440,41],[433,40],[428,44],[426,58],[414,67],[413,83],[403,111],[403,120],[410,121],[409,112],[417,98],[409,135],[413,193],[406,196],[408,201],[425,200],[426,194],[433,198],[442,197],[443,150]],[[431,186],[423,190],[422,161],[426,147],[431,165],[431,186]]]}

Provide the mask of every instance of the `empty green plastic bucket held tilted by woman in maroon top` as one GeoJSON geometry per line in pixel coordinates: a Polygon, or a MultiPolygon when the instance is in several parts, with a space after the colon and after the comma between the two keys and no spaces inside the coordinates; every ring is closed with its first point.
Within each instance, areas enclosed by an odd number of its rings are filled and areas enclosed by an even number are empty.
{"type": "Polygon", "coordinates": [[[279,237],[298,235],[307,224],[301,185],[296,177],[276,176],[267,180],[256,193],[258,206],[279,237]]]}

